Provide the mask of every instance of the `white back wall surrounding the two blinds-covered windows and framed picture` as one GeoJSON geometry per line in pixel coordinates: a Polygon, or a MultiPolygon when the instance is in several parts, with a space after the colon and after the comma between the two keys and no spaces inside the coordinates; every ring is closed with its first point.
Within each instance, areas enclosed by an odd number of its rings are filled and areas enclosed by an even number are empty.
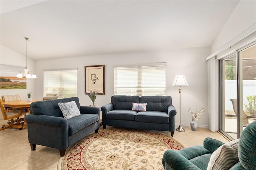
{"type": "MultiPolygon", "coordinates": [[[[182,88],[181,107],[182,125],[188,126],[191,121],[187,109],[207,109],[207,64],[205,57],[211,52],[210,47],[175,49],[170,51],[148,51],[138,53],[119,53],[108,55],[94,55],[84,57],[72,57],[63,59],[51,59],[36,61],[36,98],[43,97],[43,70],[57,68],[78,67],[78,98],[81,105],[90,105],[90,98],[84,94],[84,66],[105,65],[105,95],[98,95],[97,106],[110,103],[114,95],[114,66],[132,65],[138,63],[167,62],[167,95],[173,100],[177,115],[176,125],[179,124],[179,92],[178,87],[172,83],[176,74],[184,74],[188,81],[188,87],[182,88]]],[[[208,113],[201,116],[198,126],[207,127],[208,113]]]]}

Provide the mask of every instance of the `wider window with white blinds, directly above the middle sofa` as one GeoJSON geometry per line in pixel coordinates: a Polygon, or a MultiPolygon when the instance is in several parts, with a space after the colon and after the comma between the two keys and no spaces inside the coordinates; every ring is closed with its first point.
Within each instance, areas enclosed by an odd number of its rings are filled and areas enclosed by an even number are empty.
{"type": "Polygon", "coordinates": [[[114,95],[166,95],[166,64],[115,67],[114,95]]]}

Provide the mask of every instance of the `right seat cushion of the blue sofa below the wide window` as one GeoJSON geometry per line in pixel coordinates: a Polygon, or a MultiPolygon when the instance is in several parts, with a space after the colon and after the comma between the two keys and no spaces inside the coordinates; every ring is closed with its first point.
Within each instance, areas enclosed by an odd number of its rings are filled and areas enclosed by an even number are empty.
{"type": "Polygon", "coordinates": [[[137,122],[168,124],[169,120],[167,113],[158,111],[138,112],[135,116],[135,121],[137,122]]]}

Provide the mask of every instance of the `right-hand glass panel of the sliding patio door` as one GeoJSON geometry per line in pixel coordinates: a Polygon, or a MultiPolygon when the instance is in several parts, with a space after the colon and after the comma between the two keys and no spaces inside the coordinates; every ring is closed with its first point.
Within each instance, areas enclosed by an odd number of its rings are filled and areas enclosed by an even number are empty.
{"type": "Polygon", "coordinates": [[[256,44],[238,51],[238,60],[238,130],[241,133],[247,125],[256,120],[256,44]]]}

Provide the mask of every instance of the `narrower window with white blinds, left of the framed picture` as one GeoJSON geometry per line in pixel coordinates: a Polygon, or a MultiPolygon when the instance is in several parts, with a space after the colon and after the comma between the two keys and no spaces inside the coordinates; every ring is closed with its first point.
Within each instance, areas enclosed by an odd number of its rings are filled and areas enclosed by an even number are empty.
{"type": "Polygon", "coordinates": [[[77,68],[44,71],[44,96],[56,93],[60,99],[77,97],[77,68]]]}

